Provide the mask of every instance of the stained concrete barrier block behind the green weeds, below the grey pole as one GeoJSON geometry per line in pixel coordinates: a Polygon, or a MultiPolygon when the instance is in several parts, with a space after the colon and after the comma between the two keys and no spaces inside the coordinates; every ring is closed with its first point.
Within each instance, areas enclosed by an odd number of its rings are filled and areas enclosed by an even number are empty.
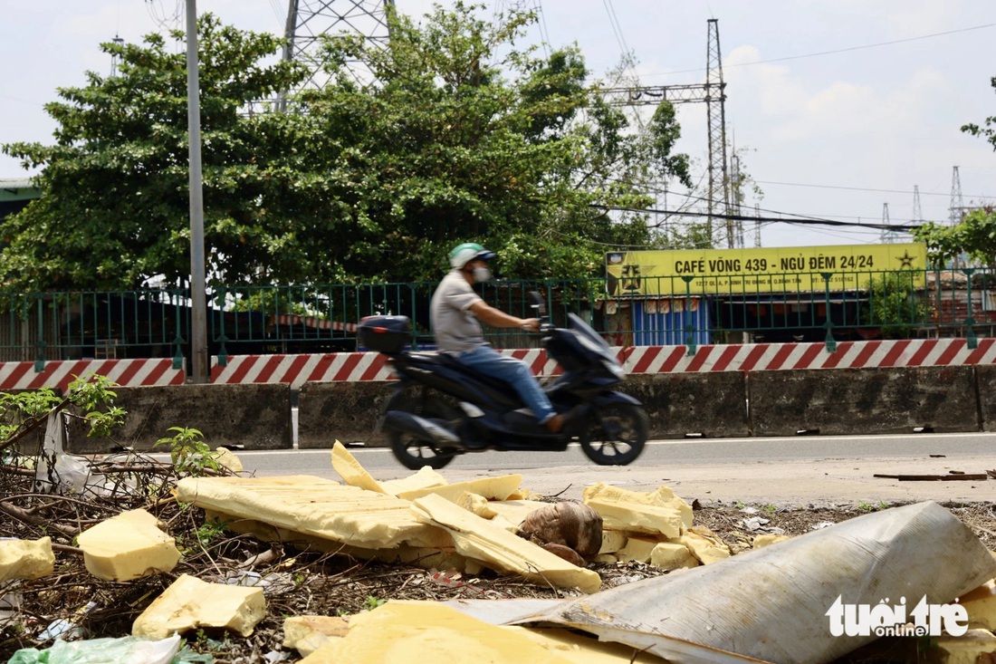
{"type": "Polygon", "coordinates": [[[286,450],[294,445],[291,388],[286,383],[119,387],[115,392],[115,405],[127,412],[115,442],[71,432],[71,452],[101,454],[113,445],[148,452],[157,440],[172,435],[170,427],[196,429],[211,449],[286,450]]]}

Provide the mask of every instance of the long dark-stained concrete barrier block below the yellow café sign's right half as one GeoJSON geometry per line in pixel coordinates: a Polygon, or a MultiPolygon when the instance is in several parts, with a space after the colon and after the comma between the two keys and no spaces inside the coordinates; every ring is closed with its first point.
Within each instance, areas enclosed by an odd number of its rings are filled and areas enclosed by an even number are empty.
{"type": "Polygon", "coordinates": [[[747,389],[754,436],[981,428],[970,366],[759,371],[747,389]]]}

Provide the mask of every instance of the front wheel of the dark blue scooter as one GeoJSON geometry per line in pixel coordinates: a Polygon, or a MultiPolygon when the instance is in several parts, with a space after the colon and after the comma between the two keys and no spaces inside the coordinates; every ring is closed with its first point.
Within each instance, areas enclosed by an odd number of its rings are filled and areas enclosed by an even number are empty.
{"type": "Polygon", "coordinates": [[[625,466],[643,452],[649,429],[639,406],[609,404],[588,418],[578,440],[585,456],[599,466],[625,466]]]}

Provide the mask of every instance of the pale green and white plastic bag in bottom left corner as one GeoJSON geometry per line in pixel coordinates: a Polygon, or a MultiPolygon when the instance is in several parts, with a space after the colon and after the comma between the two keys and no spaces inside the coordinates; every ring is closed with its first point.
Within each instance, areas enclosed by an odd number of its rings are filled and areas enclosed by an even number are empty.
{"type": "Polygon", "coordinates": [[[174,659],[179,649],[180,637],[176,634],[157,641],[133,636],[86,641],[63,641],[60,639],[46,650],[36,648],[18,650],[7,664],[119,664],[121,662],[127,664],[184,664],[195,661],[174,659]]]}

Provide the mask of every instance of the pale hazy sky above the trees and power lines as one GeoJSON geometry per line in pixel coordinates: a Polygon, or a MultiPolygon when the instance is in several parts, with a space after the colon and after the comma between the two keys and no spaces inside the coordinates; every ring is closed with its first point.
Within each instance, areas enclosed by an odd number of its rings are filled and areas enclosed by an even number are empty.
{"type": "MultiPolygon", "coordinates": [[[[352,0],[337,0],[353,4],[352,0]]],[[[374,2],[374,0],[367,0],[374,2]]],[[[513,0],[490,0],[486,12],[513,0]]],[[[996,202],[996,152],[960,131],[996,116],[992,0],[518,0],[540,11],[529,39],[577,44],[594,78],[630,54],[641,86],[705,81],[707,22],[718,21],[726,132],[761,189],[744,213],[891,223],[950,217],[954,167],[963,204],[996,202]],[[989,55],[986,55],[986,54],[989,55]]],[[[197,0],[236,27],[282,34],[287,0],[197,0]]],[[[302,2],[302,5],[309,3],[302,2]]],[[[315,6],[318,0],[311,0],[315,6]]],[[[375,4],[375,2],[374,2],[375,4]]],[[[448,0],[442,4],[449,4],[448,0]]],[[[183,26],[184,0],[0,0],[0,144],[52,143],[44,111],[60,87],[111,71],[99,44],[183,26]]],[[[331,3],[335,10],[336,2],[331,3]]],[[[418,19],[426,0],[395,0],[418,19]]],[[[178,47],[182,50],[182,46],[178,47]]],[[[708,163],[706,106],[676,107],[693,177],[708,163]]],[[[30,175],[0,155],[0,178],[30,175]]],[[[658,200],[676,209],[680,191],[658,200]]],[[[892,234],[897,241],[909,236],[892,234]]],[[[867,244],[878,229],[744,223],[745,247],[867,244]]]]}

